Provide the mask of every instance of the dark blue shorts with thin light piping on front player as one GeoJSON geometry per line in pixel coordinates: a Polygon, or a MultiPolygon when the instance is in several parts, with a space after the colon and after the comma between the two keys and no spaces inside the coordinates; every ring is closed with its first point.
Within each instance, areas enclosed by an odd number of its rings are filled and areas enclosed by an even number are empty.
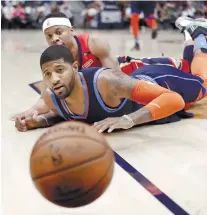
{"type": "Polygon", "coordinates": [[[155,84],[180,94],[185,103],[194,102],[200,93],[202,97],[206,93],[202,78],[166,65],[141,67],[132,76],[136,79],[150,79],[155,84]]]}

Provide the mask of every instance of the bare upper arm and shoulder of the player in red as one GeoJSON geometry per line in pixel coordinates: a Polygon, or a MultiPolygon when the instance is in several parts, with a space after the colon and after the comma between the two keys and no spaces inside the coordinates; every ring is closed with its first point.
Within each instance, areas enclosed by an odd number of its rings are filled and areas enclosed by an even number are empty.
{"type": "Polygon", "coordinates": [[[102,67],[114,68],[113,72],[121,72],[119,63],[112,55],[109,43],[98,36],[89,37],[89,48],[91,53],[94,54],[102,63],[102,67]]]}

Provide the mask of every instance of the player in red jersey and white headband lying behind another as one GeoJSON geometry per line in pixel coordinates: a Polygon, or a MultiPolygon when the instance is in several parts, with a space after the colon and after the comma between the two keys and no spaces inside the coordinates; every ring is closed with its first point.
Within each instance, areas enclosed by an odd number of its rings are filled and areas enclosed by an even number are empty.
{"type": "MultiPolygon", "coordinates": [[[[178,25],[179,27],[181,26],[184,28],[186,27],[186,23],[194,23],[199,27],[204,26],[207,22],[203,20],[188,20],[183,18],[178,22],[178,25]]],[[[152,64],[162,64],[179,68],[184,72],[190,72],[190,64],[193,57],[193,45],[187,44],[183,52],[183,59],[178,61],[168,57],[134,59],[124,56],[116,59],[111,53],[109,43],[103,38],[89,34],[75,35],[69,19],[63,13],[49,14],[43,22],[43,32],[48,45],[64,44],[71,51],[74,60],[78,62],[79,69],[109,67],[115,68],[116,72],[122,71],[130,75],[137,68],[152,64]]],[[[185,31],[185,33],[188,35],[188,38],[190,38],[189,33],[187,33],[187,31],[185,31]]],[[[44,92],[45,90],[43,90],[41,98],[32,108],[13,116],[13,119],[16,117],[21,117],[23,119],[27,115],[37,116],[39,114],[47,113],[49,110],[43,100],[44,92]]]]}

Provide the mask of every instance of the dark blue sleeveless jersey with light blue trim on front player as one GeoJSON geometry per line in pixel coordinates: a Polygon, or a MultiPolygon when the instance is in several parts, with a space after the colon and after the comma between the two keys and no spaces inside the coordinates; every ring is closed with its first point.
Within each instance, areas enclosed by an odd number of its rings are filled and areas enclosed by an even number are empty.
{"type": "Polygon", "coordinates": [[[79,120],[91,124],[107,117],[119,117],[124,114],[130,114],[143,106],[131,100],[123,99],[118,107],[107,107],[97,89],[98,75],[103,70],[105,68],[94,67],[79,72],[85,94],[85,111],[83,115],[73,114],[67,107],[64,99],[58,99],[52,91],[49,91],[58,113],[65,120],[79,120]]]}

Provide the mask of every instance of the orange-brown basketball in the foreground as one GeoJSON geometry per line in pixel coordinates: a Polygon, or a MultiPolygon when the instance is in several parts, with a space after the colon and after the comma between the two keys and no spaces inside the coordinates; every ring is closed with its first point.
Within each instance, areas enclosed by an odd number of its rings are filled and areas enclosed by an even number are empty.
{"type": "Polygon", "coordinates": [[[114,154],[103,135],[79,122],[47,130],[30,156],[39,192],[63,207],[80,207],[100,197],[113,176],[114,154]]]}

